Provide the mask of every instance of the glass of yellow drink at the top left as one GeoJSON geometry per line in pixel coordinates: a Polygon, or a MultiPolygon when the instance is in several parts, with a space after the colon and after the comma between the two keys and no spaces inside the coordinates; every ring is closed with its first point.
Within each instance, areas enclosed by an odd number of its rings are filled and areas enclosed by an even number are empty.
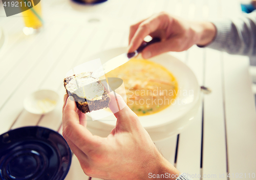
{"type": "MultiPolygon", "coordinates": [[[[32,0],[33,3],[33,0],[32,0]]],[[[41,12],[41,3],[39,2],[36,6],[33,8],[22,12],[25,28],[32,28],[33,30],[37,31],[39,30],[43,23],[42,23],[42,12],[41,12]]],[[[31,30],[24,29],[24,33],[27,34],[33,34],[35,32],[31,32],[31,30]]]]}

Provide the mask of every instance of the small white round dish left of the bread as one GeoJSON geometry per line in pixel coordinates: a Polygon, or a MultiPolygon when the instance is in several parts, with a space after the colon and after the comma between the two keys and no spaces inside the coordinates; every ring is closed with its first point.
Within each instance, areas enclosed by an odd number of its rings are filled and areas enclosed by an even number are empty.
{"type": "Polygon", "coordinates": [[[38,90],[24,99],[24,108],[33,114],[46,114],[54,110],[59,95],[52,90],[38,90]]]}

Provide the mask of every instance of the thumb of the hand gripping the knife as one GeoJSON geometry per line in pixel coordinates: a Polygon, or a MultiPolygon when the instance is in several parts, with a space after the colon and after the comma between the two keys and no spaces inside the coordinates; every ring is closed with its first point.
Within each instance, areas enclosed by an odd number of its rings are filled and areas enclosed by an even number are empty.
{"type": "Polygon", "coordinates": [[[142,57],[144,59],[148,59],[169,51],[180,52],[182,51],[182,48],[183,48],[183,45],[180,43],[180,38],[174,37],[166,41],[148,45],[143,50],[142,57]]]}

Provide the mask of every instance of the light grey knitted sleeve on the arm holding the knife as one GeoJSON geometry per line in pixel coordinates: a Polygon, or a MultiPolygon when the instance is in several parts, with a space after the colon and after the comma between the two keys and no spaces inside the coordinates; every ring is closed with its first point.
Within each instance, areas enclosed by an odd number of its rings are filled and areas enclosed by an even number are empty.
{"type": "MultiPolygon", "coordinates": [[[[209,22],[210,23],[210,22],[209,22]]],[[[229,54],[256,55],[256,12],[233,20],[214,21],[216,34],[212,41],[198,43],[200,47],[209,47],[229,54]]],[[[209,30],[202,31],[202,37],[209,35],[209,30]]],[[[204,39],[204,38],[203,38],[204,39]]],[[[207,38],[206,38],[207,39],[207,38]]]]}

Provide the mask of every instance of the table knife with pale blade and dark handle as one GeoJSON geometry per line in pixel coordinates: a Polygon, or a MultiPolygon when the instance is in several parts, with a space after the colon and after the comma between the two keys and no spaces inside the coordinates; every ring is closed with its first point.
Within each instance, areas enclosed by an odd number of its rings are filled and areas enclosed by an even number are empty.
{"type": "Polygon", "coordinates": [[[139,48],[137,50],[135,50],[135,52],[132,53],[123,53],[115,58],[112,58],[111,60],[105,62],[102,67],[99,67],[97,69],[95,69],[92,73],[92,76],[94,78],[99,78],[102,75],[108,73],[109,71],[123,65],[124,63],[128,62],[130,59],[132,59],[133,57],[136,57],[139,53],[142,52],[142,50],[153,43],[156,42],[160,42],[161,39],[160,38],[153,38],[151,41],[143,41],[142,44],[139,46],[139,48]],[[103,68],[103,70],[102,70],[103,68]]]}

